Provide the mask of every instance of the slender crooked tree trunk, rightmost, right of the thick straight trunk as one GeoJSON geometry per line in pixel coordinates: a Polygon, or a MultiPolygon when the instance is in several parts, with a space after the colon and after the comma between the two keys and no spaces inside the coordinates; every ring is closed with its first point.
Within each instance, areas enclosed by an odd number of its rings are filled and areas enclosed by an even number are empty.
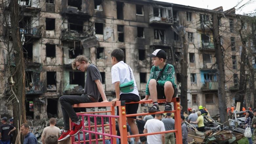
{"type": "Polygon", "coordinates": [[[239,29],[239,35],[242,40],[242,51],[241,51],[241,61],[240,61],[240,81],[239,81],[239,90],[235,95],[235,101],[240,102],[240,111],[243,109],[244,97],[246,91],[246,79],[245,79],[245,61],[246,61],[246,42],[242,35],[242,25],[243,21],[241,20],[241,28],[239,29]]]}

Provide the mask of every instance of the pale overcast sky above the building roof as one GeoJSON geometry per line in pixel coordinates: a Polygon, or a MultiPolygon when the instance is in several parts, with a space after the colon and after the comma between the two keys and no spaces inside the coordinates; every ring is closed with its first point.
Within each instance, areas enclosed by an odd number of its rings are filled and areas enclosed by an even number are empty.
{"type": "MultiPolygon", "coordinates": [[[[192,7],[198,7],[198,8],[210,9],[210,10],[222,6],[223,10],[225,11],[236,6],[238,1],[241,1],[241,0],[157,0],[157,1],[181,4],[185,6],[192,6],[192,7]]],[[[244,0],[241,5],[243,5],[247,1],[248,0],[244,0]]],[[[238,7],[236,7],[236,9],[238,7]]],[[[255,9],[256,9],[256,0],[254,0],[253,3],[245,6],[243,9],[237,10],[236,13],[237,14],[250,13],[255,9]]]]}

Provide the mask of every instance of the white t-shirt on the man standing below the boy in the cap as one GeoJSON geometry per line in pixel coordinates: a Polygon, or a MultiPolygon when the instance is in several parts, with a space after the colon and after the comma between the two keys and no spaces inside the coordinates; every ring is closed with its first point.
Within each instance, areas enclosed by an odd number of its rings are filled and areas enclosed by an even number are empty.
{"type": "MultiPolygon", "coordinates": [[[[144,129],[147,129],[148,133],[165,131],[163,122],[155,118],[147,120],[144,129]]],[[[161,134],[148,135],[147,142],[148,144],[161,144],[161,134]]]]}

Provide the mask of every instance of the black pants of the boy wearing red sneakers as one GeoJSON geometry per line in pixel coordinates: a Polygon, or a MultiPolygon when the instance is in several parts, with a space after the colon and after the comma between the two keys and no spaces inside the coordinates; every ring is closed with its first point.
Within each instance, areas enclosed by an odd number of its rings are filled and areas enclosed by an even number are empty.
{"type": "Polygon", "coordinates": [[[91,103],[91,99],[85,95],[82,94],[79,95],[63,95],[59,98],[60,104],[61,104],[61,110],[63,113],[63,121],[64,121],[64,130],[69,130],[69,118],[73,122],[79,121],[79,118],[77,117],[72,105],[79,104],[79,103],[91,103]]]}

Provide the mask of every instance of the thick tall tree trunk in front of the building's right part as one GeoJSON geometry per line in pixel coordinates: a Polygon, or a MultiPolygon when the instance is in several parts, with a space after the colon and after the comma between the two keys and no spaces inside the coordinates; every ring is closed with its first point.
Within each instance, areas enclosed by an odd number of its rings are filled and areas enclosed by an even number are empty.
{"type": "MultiPolygon", "coordinates": [[[[215,48],[215,56],[216,56],[216,64],[217,64],[217,75],[219,80],[218,86],[218,99],[219,99],[219,111],[220,111],[220,119],[221,123],[228,121],[227,118],[227,107],[226,107],[226,98],[225,98],[225,70],[224,70],[224,56],[221,47],[221,37],[219,35],[219,25],[218,25],[218,15],[217,13],[213,13],[213,40],[214,40],[214,48],[215,48]]],[[[224,123],[224,125],[228,126],[228,122],[224,123]]]]}

